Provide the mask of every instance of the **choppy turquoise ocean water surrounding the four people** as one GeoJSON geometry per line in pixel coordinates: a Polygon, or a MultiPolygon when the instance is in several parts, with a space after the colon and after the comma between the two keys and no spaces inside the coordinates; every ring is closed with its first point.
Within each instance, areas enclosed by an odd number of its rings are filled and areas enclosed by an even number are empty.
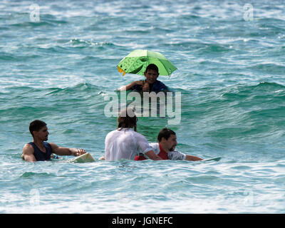
{"type": "Polygon", "coordinates": [[[285,213],[284,41],[283,1],[0,1],[0,213],[285,213]],[[104,155],[104,98],[141,78],[116,68],[138,48],[172,61],[158,79],[181,93],[179,124],[138,132],[222,160],[21,160],[34,119],[104,155]]]}

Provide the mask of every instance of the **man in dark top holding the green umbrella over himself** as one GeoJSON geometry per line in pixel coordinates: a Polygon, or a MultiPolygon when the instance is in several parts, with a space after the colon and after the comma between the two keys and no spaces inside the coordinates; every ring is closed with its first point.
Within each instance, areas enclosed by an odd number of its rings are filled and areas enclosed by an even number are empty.
{"type": "Polygon", "coordinates": [[[119,90],[133,90],[143,92],[155,92],[167,91],[168,88],[164,83],[158,81],[157,78],[160,75],[158,68],[155,64],[150,64],[145,69],[145,81],[134,81],[127,86],[122,86],[119,90]]]}

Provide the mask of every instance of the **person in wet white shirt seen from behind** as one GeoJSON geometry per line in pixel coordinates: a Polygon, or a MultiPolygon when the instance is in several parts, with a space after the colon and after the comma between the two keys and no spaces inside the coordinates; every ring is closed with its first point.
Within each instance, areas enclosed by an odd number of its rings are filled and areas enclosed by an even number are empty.
{"type": "Polygon", "coordinates": [[[145,136],[137,133],[137,121],[133,109],[123,109],[118,116],[118,128],[105,138],[105,160],[135,160],[142,153],[152,160],[162,160],[150,147],[145,136]]]}

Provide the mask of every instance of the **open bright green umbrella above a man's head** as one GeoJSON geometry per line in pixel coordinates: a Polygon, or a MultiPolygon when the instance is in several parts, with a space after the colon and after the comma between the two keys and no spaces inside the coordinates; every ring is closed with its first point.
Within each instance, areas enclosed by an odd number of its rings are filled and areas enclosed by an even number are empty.
{"type": "Polygon", "coordinates": [[[143,76],[145,69],[150,63],[158,67],[160,76],[170,76],[170,74],[177,68],[165,56],[159,52],[147,50],[135,50],[125,56],[120,63],[118,63],[118,71],[125,73],[134,73],[143,76]]]}

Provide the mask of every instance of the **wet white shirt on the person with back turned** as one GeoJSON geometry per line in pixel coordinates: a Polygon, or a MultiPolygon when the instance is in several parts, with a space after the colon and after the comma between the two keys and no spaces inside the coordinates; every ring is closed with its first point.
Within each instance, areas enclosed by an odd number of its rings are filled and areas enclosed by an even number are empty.
{"type": "Polygon", "coordinates": [[[145,154],[153,150],[145,136],[137,133],[133,128],[113,130],[105,138],[105,160],[120,159],[135,160],[140,153],[145,154]]]}

